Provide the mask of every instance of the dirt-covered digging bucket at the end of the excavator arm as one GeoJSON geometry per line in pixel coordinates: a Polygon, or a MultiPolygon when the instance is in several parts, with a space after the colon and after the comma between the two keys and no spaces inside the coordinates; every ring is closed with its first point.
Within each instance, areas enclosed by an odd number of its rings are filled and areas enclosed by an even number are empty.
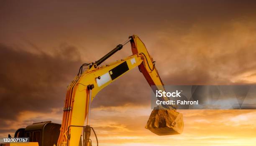
{"type": "Polygon", "coordinates": [[[155,108],[148,119],[146,129],[157,135],[182,134],[182,114],[173,109],[155,108]]]}

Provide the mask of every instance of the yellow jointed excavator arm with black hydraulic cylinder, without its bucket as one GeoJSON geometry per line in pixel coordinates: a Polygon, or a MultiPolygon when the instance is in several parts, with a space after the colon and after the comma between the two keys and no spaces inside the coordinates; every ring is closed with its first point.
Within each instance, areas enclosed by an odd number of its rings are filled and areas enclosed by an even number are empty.
{"type": "MultiPolygon", "coordinates": [[[[83,64],[80,67],[79,73],[67,89],[58,146],[79,146],[82,129],[76,126],[83,126],[86,118],[87,126],[90,125],[92,100],[101,89],[135,67],[140,69],[153,90],[156,88],[164,90],[152,57],[136,35],[129,37],[129,40],[118,45],[98,61],[92,64],[83,64]],[[98,67],[128,42],[131,42],[133,55],[98,67]],[[84,65],[88,65],[88,68],[83,71],[84,65]]],[[[170,109],[169,107],[166,108],[170,109]]]]}

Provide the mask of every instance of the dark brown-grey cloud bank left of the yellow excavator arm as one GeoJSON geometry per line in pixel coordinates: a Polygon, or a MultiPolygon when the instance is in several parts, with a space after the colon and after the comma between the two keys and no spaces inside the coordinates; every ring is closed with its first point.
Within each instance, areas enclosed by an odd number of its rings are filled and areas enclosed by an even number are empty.
{"type": "Polygon", "coordinates": [[[81,64],[79,52],[61,46],[53,55],[0,45],[0,119],[20,111],[44,111],[64,104],[66,87],[81,64]]]}

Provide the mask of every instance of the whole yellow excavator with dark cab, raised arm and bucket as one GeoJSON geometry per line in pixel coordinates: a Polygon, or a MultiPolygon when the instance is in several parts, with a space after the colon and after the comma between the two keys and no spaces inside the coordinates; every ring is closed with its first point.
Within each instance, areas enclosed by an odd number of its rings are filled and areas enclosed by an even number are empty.
{"type": "MultiPolygon", "coordinates": [[[[132,35],[127,41],[117,45],[96,62],[81,65],[78,74],[68,86],[61,124],[51,123],[51,121],[34,123],[26,128],[18,129],[14,135],[14,137],[29,137],[29,142],[0,145],[92,146],[90,136],[93,131],[98,146],[96,132],[90,126],[91,103],[100,90],[135,67],[138,67],[154,92],[156,90],[165,91],[155,62],[148,53],[146,46],[138,36],[132,35]],[[100,66],[102,62],[122,49],[128,42],[131,43],[131,56],[100,66]]],[[[161,97],[160,100],[164,101],[166,98],[161,97]]],[[[146,129],[157,135],[181,134],[183,131],[182,114],[177,112],[176,106],[155,108],[151,112],[146,129]]]]}

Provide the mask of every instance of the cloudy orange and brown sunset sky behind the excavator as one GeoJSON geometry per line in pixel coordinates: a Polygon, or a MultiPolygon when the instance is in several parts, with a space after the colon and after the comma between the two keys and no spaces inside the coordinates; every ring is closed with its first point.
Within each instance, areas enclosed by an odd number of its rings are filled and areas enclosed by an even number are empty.
{"type": "MultiPolygon", "coordinates": [[[[166,85],[256,84],[254,0],[0,0],[0,137],[61,123],[80,65],[133,34],[166,85]]],[[[126,45],[106,63],[131,54],[126,45]]],[[[138,69],[103,89],[91,112],[100,146],[256,144],[256,110],[179,110],[183,134],[157,136],[144,128],[150,97],[138,69]]]]}

